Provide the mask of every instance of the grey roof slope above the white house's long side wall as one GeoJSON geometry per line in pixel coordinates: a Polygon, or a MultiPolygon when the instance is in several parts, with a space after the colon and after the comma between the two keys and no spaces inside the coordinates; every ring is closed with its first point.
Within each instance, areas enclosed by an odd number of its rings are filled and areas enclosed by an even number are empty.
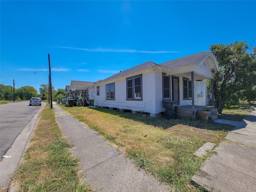
{"type": "Polygon", "coordinates": [[[144,70],[144,69],[147,69],[147,68],[150,68],[150,67],[154,67],[154,66],[159,66],[159,64],[156,64],[156,63],[151,62],[151,61],[147,61],[145,63],[142,63],[140,65],[134,66],[132,68],[120,71],[119,73],[114,74],[114,75],[112,75],[112,76],[110,76],[110,77],[108,77],[108,78],[106,78],[106,79],[104,79],[104,80],[102,80],[100,82],[108,81],[108,80],[111,80],[111,79],[114,79],[114,78],[118,78],[118,77],[130,74],[130,73],[137,72],[137,71],[140,71],[140,70],[144,70]]]}

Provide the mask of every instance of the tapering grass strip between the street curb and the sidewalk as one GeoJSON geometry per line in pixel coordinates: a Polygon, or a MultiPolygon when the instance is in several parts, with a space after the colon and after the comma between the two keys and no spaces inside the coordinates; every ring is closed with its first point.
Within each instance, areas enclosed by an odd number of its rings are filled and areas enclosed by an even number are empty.
{"type": "Polygon", "coordinates": [[[15,174],[20,192],[75,191],[90,192],[92,188],[81,182],[79,160],[55,122],[54,112],[46,105],[15,174]]]}

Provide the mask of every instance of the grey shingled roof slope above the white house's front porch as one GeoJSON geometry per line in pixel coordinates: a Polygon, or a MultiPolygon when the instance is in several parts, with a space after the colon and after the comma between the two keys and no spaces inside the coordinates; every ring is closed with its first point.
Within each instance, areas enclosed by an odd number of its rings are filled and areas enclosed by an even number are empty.
{"type": "Polygon", "coordinates": [[[173,69],[173,68],[178,68],[178,67],[199,64],[208,54],[211,54],[211,52],[203,51],[200,53],[196,53],[196,54],[192,54],[192,55],[188,55],[185,57],[181,57],[178,59],[164,62],[164,63],[160,64],[160,66],[162,66],[164,68],[173,69]]]}

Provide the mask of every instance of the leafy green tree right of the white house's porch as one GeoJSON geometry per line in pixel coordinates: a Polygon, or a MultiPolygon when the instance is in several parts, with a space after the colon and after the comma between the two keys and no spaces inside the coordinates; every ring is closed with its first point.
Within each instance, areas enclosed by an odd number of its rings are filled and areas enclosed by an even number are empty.
{"type": "Polygon", "coordinates": [[[250,53],[247,50],[248,45],[244,41],[210,46],[220,67],[214,76],[214,96],[220,114],[232,94],[249,90],[256,83],[256,49],[250,53]]]}

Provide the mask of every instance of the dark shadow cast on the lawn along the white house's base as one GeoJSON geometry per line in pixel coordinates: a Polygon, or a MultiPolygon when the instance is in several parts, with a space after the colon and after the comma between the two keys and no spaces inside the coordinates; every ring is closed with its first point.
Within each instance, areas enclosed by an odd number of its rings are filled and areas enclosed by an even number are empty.
{"type": "Polygon", "coordinates": [[[207,130],[231,131],[234,128],[234,126],[232,125],[215,123],[213,121],[204,122],[201,120],[186,120],[186,119],[166,120],[166,118],[163,118],[161,115],[155,118],[152,118],[149,115],[142,116],[142,113],[140,112],[133,114],[131,112],[119,112],[118,110],[110,110],[106,108],[91,108],[91,109],[99,112],[116,115],[122,118],[138,121],[144,124],[160,127],[163,129],[167,129],[178,124],[192,126],[200,129],[207,129],[207,130]]]}

